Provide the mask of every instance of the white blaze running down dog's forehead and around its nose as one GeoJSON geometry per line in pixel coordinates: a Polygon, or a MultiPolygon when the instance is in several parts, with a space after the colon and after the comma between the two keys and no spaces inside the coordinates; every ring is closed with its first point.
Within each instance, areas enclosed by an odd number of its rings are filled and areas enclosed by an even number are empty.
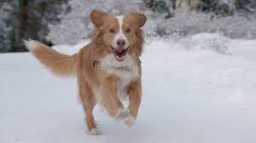
{"type": "Polygon", "coordinates": [[[123,29],[122,29],[124,16],[120,15],[120,16],[116,16],[116,18],[118,19],[118,22],[119,22],[119,31],[117,31],[117,33],[114,36],[113,41],[112,41],[111,44],[113,46],[113,49],[118,49],[117,41],[118,40],[125,40],[124,49],[127,49],[129,47],[129,42],[127,40],[127,37],[125,37],[125,34],[123,32],[123,29]]]}

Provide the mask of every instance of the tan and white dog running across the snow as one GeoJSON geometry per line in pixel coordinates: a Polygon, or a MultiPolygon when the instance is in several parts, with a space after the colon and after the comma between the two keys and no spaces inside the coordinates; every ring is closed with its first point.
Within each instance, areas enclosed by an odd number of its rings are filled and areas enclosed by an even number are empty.
{"type": "Polygon", "coordinates": [[[38,41],[24,41],[26,48],[58,76],[75,75],[79,99],[85,112],[90,134],[102,134],[97,129],[93,108],[98,103],[110,117],[131,127],[137,118],[142,100],[144,14],[113,16],[93,10],[90,20],[95,26],[91,42],[77,54],[61,54],[38,41]],[[125,107],[123,99],[129,100],[125,107]]]}

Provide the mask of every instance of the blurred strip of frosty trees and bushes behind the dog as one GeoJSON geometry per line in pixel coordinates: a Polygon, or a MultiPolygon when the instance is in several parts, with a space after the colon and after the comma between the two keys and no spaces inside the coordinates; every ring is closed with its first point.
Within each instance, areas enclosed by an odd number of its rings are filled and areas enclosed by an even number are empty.
{"type": "Polygon", "coordinates": [[[1,0],[0,53],[26,51],[22,39],[49,45],[90,37],[90,11],[111,14],[137,10],[148,16],[147,38],[177,39],[201,32],[256,37],[255,0],[1,0]]]}

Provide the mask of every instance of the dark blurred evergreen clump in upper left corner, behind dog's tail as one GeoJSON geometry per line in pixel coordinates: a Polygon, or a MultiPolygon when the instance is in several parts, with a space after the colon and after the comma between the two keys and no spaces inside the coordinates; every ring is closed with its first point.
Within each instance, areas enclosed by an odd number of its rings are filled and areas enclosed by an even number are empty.
{"type": "Polygon", "coordinates": [[[0,37],[0,50],[26,51],[22,39],[27,38],[49,43],[46,40],[48,25],[61,21],[57,15],[66,9],[62,3],[67,3],[67,0],[2,0],[0,11],[8,16],[2,16],[3,21],[0,22],[3,25],[0,31],[4,31],[0,37]],[[6,5],[9,9],[6,9],[6,5]]]}

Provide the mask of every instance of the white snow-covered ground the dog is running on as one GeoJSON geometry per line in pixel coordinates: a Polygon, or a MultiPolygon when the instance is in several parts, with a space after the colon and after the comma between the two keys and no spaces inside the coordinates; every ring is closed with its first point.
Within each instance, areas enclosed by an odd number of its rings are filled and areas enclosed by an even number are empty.
{"type": "Polygon", "coordinates": [[[256,40],[154,40],[142,57],[137,123],[128,129],[96,108],[103,135],[91,136],[75,79],[51,75],[31,54],[0,54],[0,143],[256,142],[255,55],[256,40]]]}

